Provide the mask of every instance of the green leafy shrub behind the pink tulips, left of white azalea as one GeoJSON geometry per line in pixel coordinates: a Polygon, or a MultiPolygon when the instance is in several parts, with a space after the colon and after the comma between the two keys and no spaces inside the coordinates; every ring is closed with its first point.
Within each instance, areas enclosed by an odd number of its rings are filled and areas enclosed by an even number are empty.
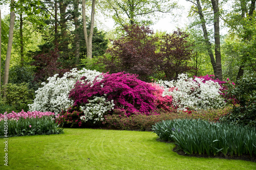
{"type": "MultiPolygon", "coordinates": [[[[33,103],[34,91],[30,90],[27,83],[12,84],[9,83],[6,87],[6,98],[4,99],[4,105],[9,105],[13,111],[28,111],[28,104],[33,103]]],[[[6,111],[10,111],[9,109],[6,111]]]]}

